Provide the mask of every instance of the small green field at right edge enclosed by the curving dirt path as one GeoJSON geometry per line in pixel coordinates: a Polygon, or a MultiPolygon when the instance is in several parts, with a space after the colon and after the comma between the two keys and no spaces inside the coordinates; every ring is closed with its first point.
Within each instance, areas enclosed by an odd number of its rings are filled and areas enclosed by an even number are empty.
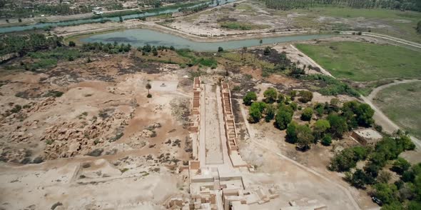
{"type": "Polygon", "coordinates": [[[421,81],[397,84],[380,91],[375,104],[398,126],[421,138],[421,81]]]}

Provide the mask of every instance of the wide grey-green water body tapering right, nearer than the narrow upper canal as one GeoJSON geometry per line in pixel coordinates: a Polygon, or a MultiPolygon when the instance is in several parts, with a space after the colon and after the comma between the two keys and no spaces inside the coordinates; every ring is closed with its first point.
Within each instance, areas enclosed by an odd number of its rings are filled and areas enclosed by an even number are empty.
{"type": "MultiPolygon", "coordinates": [[[[263,44],[276,44],[288,41],[305,41],[335,36],[333,34],[309,34],[295,36],[279,36],[263,38],[263,44]]],[[[194,51],[217,51],[221,46],[223,49],[239,49],[243,46],[258,46],[260,39],[243,39],[236,41],[198,42],[184,39],[180,36],[165,34],[149,29],[127,29],[124,31],[109,32],[106,34],[95,34],[81,39],[82,42],[103,42],[119,44],[131,44],[132,46],[174,46],[176,49],[191,49],[194,51]]]]}

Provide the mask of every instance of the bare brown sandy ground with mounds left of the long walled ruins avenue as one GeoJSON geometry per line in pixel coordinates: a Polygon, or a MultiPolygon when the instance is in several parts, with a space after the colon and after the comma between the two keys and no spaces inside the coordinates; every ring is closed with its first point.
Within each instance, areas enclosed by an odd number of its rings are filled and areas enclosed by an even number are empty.
{"type": "Polygon", "coordinates": [[[50,209],[57,202],[56,209],[165,209],[166,199],[187,193],[183,175],[174,174],[191,156],[186,70],[142,67],[128,55],[91,59],[41,74],[0,70],[1,114],[31,104],[1,118],[1,158],[8,163],[0,164],[0,209],[50,209]],[[167,88],[156,87],[167,81],[167,88]],[[43,96],[49,90],[64,94],[43,96]],[[27,164],[37,158],[44,163],[27,164]]]}

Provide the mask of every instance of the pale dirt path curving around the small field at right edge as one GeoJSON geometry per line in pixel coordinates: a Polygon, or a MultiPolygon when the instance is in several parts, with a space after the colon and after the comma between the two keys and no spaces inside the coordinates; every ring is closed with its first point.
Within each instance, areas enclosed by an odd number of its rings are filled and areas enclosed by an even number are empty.
{"type": "MultiPolygon", "coordinates": [[[[362,101],[364,101],[366,104],[369,104],[372,109],[375,110],[375,114],[373,116],[373,118],[375,119],[376,123],[379,124],[380,126],[382,126],[383,130],[392,134],[394,131],[396,131],[397,129],[400,129],[399,126],[397,126],[397,124],[395,124],[393,121],[391,121],[389,118],[387,118],[387,116],[385,114],[383,114],[383,112],[377,107],[375,106],[375,104],[372,103],[372,100],[375,98],[375,96],[382,90],[382,89],[386,89],[390,86],[395,86],[397,84],[405,84],[405,83],[410,83],[410,82],[415,82],[415,81],[420,81],[418,79],[407,79],[407,80],[402,80],[402,81],[395,81],[393,83],[390,84],[385,84],[382,86],[378,86],[376,89],[372,90],[372,92],[370,93],[369,96],[365,97],[365,96],[361,96],[362,101]]],[[[414,142],[414,144],[417,146],[417,149],[421,149],[421,141],[420,139],[415,138],[414,136],[410,136],[412,139],[412,142],[414,142]]]]}

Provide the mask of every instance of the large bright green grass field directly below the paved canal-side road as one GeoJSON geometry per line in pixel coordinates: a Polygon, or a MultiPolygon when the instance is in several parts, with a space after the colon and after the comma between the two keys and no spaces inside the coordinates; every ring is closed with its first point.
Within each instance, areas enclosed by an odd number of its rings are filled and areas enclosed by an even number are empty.
{"type": "Polygon", "coordinates": [[[296,46],[338,79],[369,82],[421,78],[421,53],[400,46],[352,41],[296,46]]]}

